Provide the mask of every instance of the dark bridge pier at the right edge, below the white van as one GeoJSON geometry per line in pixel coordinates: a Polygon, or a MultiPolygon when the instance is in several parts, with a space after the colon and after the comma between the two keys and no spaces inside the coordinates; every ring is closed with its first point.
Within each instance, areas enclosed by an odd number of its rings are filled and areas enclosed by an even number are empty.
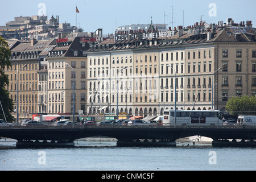
{"type": "Polygon", "coordinates": [[[255,140],[228,140],[228,139],[214,139],[213,147],[256,147],[255,140]]]}

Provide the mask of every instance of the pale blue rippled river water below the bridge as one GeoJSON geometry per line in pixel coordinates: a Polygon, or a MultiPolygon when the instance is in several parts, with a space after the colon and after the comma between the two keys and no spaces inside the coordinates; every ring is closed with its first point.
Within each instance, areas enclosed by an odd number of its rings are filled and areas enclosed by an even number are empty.
{"type": "MultiPolygon", "coordinates": [[[[188,145],[189,144],[189,145],[188,145]]],[[[0,140],[1,171],[254,171],[256,148],[117,147],[114,141],[75,141],[72,148],[16,148],[0,140]]]]}

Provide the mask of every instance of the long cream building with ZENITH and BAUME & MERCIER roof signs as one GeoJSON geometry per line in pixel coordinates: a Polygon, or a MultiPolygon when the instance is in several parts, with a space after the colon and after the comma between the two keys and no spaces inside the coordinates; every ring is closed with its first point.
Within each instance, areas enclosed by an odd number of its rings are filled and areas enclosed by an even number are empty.
{"type": "MultiPolygon", "coordinates": [[[[251,22],[219,26],[200,22],[168,32],[117,32],[113,44],[91,48],[88,59],[97,62],[107,53],[112,60],[108,70],[126,70],[133,75],[129,77],[131,84],[119,74],[117,78],[109,77],[113,89],[117,80],[119,83],[108,104],[112,114],[117,113],[117,90],[119,111],[132,115],[161,115],[164,109],[175,108],[175,99],[177,109],[225,111],[226,98],[255,94],[255,32],[249,27],[251,22]],[[223,57],[227,52],[228,57],[223,57]],[[230,79],[236,84],[228,84],[230,79]],[[124,100],[126,89],[128,98],[124,100]]],[[[96,67],[88,65],[88,70],[100,74],[106,69],[105,65],[96,67]]],[[[93,80],[96,85],[97,79],[93,80]]],[[[106,109],[104,104],[103,99],[101,105],[94,102],[94,112],[101,113],[102,108],[106,109]]]]}

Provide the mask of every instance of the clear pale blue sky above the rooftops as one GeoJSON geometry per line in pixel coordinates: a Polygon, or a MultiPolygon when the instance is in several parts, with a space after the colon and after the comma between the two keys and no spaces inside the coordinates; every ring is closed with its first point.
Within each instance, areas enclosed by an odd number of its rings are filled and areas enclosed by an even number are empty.
{"type": "Polygon", "coordinates": [[[104,35],[114,33],[118,26],[151,23],[151,16],[153,23],[166,23],[167,27],[187,27],[200,19],[225,23],[226,18],[234,23],[252,20],[256,27],[255,7],[255,0],[0,0],[0,26],[15,16],[46,13],[48,19],[59,15],[60,23],[76,26],[77,22],[84,32],[103,28],[104,35]],[[80,13],[76,13],[76,6],[80,13]]]}

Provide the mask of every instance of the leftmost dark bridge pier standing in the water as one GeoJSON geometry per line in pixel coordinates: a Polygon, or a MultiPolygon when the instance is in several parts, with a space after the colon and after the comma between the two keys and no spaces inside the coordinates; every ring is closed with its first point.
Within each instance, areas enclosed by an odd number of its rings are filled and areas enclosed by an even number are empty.
{"type": "Polygon", "coordinates": [[[74,142],[56,140],[18,140],[16,147],[74,147],[74,142]]]}

